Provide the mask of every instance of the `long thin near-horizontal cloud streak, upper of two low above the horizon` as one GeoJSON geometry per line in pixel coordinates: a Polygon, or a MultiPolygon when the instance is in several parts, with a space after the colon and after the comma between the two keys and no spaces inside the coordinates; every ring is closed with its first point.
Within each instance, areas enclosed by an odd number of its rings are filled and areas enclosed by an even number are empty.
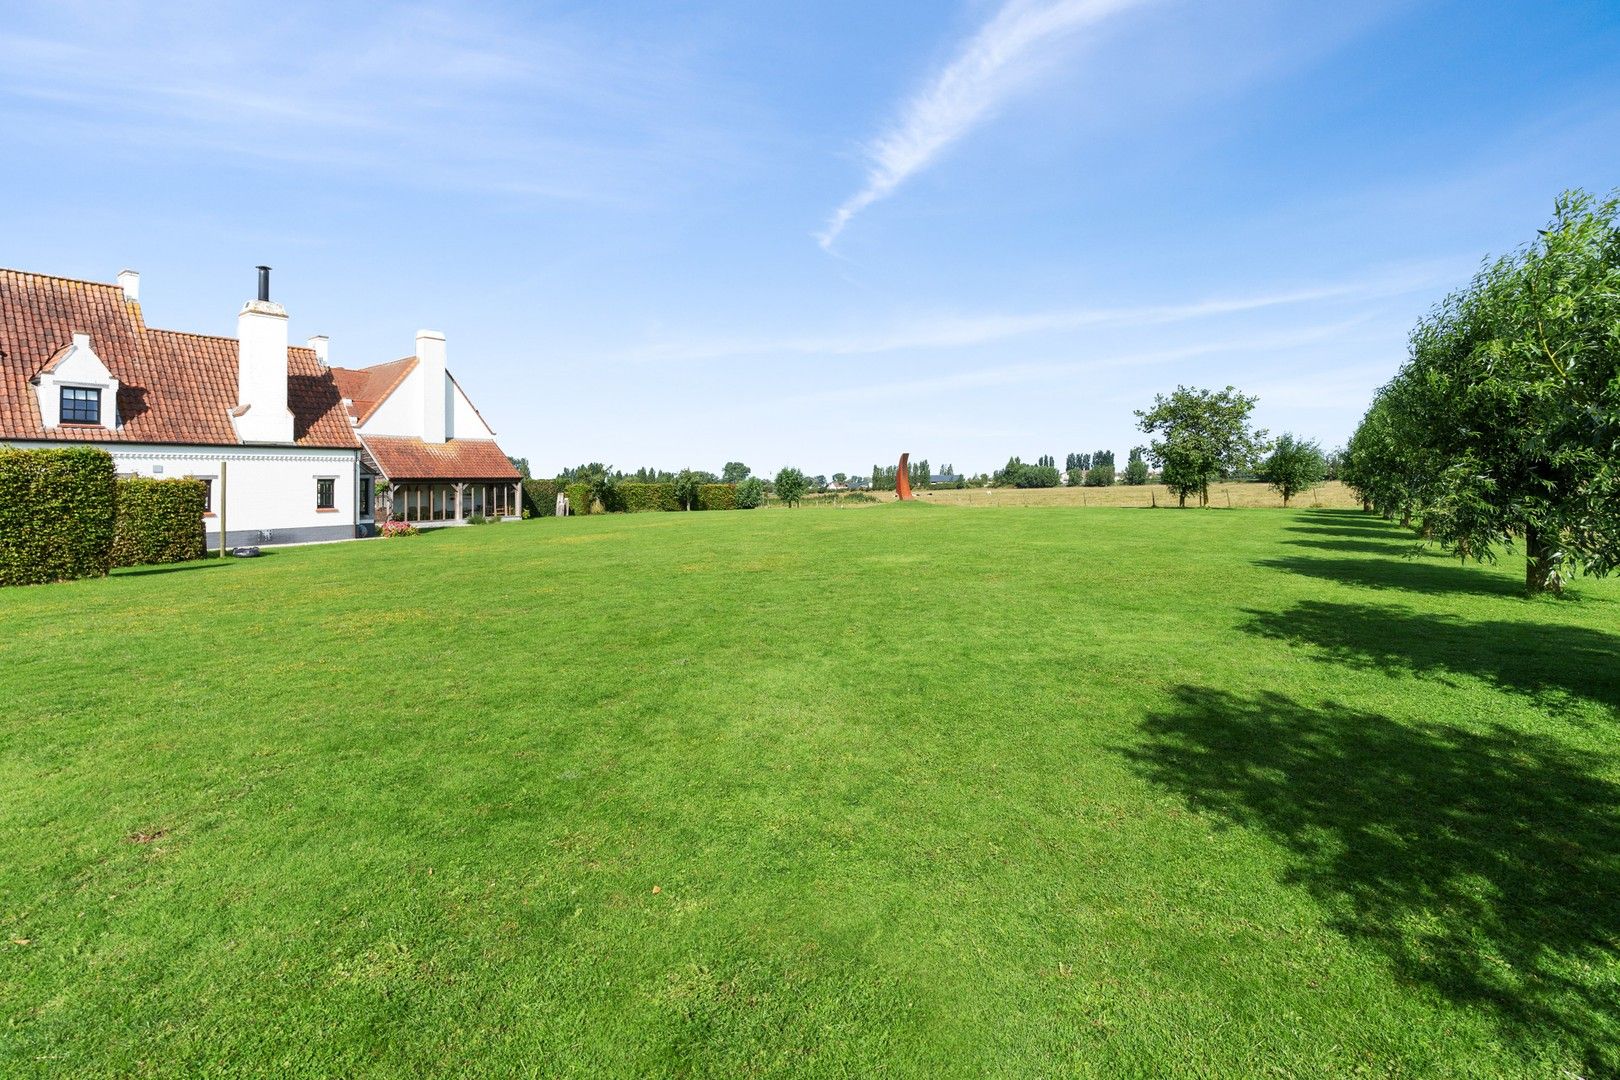
{"type": "Polygon", "coordinates": [[[805,335],[755,340],[659,343],[617,359],[680,363],[739,356],[865,356],[906,350],[949,350],[990,345],[1037,334],[1094,327],[1153,327],[1217,319],[1272,308],[1328,301],[1367,301],[1429,291],[1455,280],[1460,261],[1385,269],[1356,280],[1280,291],[1213,296],[1174,304],[1131,308],[1068,308],[1032,313],[935,314],[901,325],[844,335],[805,335]]]}

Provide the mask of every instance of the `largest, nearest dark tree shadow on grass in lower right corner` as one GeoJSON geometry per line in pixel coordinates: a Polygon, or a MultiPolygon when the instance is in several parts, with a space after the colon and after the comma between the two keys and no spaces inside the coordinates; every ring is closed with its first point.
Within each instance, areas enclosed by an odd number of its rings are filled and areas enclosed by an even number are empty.
{"type": "Polygon", "coordinates": [[[1487,1012],[1526,1057],[1620,1075],[1620,787],[1602,759],[1199,687],[1144,735],[1126,751],[1142,776],[1277,840],[1285,881],[1400,980],[1487,1012]]]}

